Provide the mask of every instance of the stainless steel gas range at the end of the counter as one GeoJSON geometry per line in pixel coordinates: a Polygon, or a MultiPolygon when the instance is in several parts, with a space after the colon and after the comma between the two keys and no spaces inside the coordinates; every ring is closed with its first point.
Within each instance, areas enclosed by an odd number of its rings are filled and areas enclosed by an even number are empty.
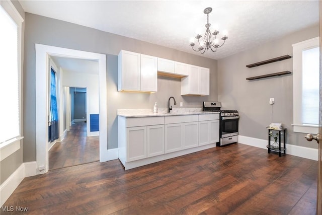
{"type": "Polygon", "coordinates": [[[220,102],[203,102],[203,111],[220,113],[219,137],[217,146],[224,146],[238,141],[238,120],[239,115],[236,110],[221,110],[220,102]]]}

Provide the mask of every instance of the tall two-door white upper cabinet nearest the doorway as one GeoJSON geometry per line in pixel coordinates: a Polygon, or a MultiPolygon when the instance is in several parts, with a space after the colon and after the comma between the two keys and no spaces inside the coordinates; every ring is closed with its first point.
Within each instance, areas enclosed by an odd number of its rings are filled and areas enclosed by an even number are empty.
{"type": "Polygon", "coordinates": [[[156,57],[121,50],[118,55],[118,91],[157,91],[156,57]]]}

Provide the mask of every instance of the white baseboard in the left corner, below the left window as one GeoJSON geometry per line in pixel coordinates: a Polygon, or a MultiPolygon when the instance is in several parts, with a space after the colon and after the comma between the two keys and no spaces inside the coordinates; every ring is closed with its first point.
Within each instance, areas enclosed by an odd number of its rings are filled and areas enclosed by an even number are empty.
{"type": "Polygon", "coordinates": [[[36,162],[22,163],[9,178],[0,185],[0,205],[3,206],[25,177],[36,175],[36,162]]]}

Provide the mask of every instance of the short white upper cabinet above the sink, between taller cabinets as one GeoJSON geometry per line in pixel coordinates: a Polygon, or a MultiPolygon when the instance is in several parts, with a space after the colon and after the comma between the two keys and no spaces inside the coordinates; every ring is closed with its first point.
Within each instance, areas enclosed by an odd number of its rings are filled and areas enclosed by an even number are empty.
{"type": "Polygon", "coordinates": [[[189,64],[158,57],[157,71],[159,76],[182,78],[189,76],[189,64]]]}

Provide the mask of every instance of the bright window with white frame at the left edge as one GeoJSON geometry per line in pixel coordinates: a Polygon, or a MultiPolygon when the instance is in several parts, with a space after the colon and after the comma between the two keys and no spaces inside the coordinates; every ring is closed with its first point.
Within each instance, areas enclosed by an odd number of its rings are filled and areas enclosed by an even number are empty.
{"type": "MultiPolygon", "coordinates": [[[[2,32],[0,34],[0,149],[22,138],[20,136],[22,22],[22,17],[10,1],[0,2],[0,32],[2,32]]],[[[3,159],[4,157],[1,158],[3,159]]]]}

